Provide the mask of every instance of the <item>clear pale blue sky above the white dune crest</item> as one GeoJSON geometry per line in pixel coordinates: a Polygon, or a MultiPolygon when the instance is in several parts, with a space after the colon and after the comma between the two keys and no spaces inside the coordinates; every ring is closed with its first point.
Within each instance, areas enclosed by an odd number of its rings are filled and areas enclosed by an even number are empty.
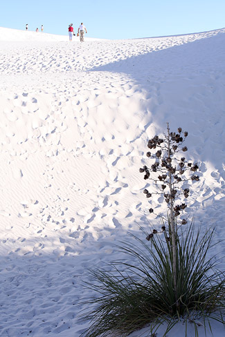
{"type": "Polygon", "coordinates": [[[87,36],[134,39],[181,35],[225,26],[225,0],[0,0],[0,26],[67,35],[81,21],[87,36]]]}

